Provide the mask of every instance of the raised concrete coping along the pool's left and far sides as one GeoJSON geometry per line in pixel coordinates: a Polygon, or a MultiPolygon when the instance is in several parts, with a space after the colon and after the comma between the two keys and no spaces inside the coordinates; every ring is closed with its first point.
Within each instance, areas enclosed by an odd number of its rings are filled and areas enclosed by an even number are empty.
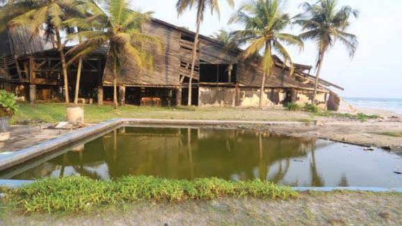
{"type": "Polygon", "coordinates": [[[243,124],[261,124],[261,125],[278,125],[278,124],[305,124],[304,122],[269,122],[269,121],[245,121],[245,120],[159,120],[159,119],[134,119],[134,118],[116,118],[95,124],[90,127],[78,129],[70,134],[63,134],[58,138],[47,140],[33,145],[31,147],[9,152],[0,155],[0,172],[21,163],[35,159],[38,156],[47,154],[61,147],[72,145],[73,143],[93,136],[107,129],[118,127],[124,123],[127,124],[170,124],[170,125],[243,125],[243,124]]]}

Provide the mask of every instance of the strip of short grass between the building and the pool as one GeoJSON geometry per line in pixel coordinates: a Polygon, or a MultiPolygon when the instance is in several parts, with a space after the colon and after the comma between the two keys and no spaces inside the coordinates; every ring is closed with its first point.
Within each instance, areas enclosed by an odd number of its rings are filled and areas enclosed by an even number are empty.
{"type": "MultiPolygon", "coordinates": [[[[113,108],[110,105],[83,105],[85,122],[97,123],[112,118],[154,118],[175,120],[257,120],[257,121],[294,121],[311,118],[309,113],[281,111],[259,111],[253,108],[231,107],[151,107],[127,105],[113,108]]],[[[65,104],[38,103],[19,104],[19,111],[11,118],[13,124],[35,124],[40,122],[61,122],[66,120],[65,104]]]]}

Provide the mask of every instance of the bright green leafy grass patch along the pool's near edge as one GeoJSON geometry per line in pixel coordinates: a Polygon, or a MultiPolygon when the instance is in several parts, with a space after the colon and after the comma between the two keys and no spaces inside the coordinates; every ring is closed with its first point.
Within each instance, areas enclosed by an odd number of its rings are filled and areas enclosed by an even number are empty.
{"type": "Polygon", "coordinates": [[[223,179],[159,179],[122,177],[97,181],[86,177],[41,179],[33,184],[3,191],[6,204],[25,212],[89,211],[93,207],[137,201],[182,202],[217,197],[259,197],[287,199],[298,193],[268,181],[226,181],[223,179]]]}

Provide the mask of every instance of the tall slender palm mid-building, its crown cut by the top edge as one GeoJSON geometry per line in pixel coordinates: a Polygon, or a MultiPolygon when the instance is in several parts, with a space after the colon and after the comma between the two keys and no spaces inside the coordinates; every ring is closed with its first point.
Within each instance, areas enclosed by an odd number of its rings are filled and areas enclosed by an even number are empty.
{"type": "MultiPolygon", "coordinates": [[[[233,0],[226,0],[230,6],[234,6],[233,0]]],[[[194,76],[194,67],[195,67],[195,59],[197,58],[197,47],[198,47],[198,38],[200,36],[200,26],[201,22],[204,19],[205,10],[211,10],[211,13],[218,13],[218,17],[220,17],[220,8],[218,4],[218,0],[177,0],[176,8],[178,15],[182,15],[186,9],[192,9],[193,7],[197,8],[197,29],[195,31],[194,38],[194,46],[193,46],[193,60],[191,63],[191,72],[190,72],[190,81],[188,81],[188,106],[191,106],[191,92],[192,92],[192,83],[194,76]]]]}

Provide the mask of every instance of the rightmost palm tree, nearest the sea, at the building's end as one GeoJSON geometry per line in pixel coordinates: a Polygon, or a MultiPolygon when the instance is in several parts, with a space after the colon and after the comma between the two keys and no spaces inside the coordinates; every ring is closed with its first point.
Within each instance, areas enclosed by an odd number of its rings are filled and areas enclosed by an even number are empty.
{"type": "Polygon", "coordinates": [[[319,77],[325,52],[335,45],[337,40],[341,41],[349,51],[349,56],[353,58],[358,41],[356,35],[346,33],[346,29],[351,25],[351,16],[357,18],[359,11],[350,6],[342,6],[337,9],[337,0],[319,0],[311,5],[303,3],[305,12],[296,20],[300,24],[302,40],[313,40],[316,42],[319,53],[316,62],[316,81],[314,85],[314,96],[312,104],[316,102],[316,94],[319,86],[319,77]]]}

